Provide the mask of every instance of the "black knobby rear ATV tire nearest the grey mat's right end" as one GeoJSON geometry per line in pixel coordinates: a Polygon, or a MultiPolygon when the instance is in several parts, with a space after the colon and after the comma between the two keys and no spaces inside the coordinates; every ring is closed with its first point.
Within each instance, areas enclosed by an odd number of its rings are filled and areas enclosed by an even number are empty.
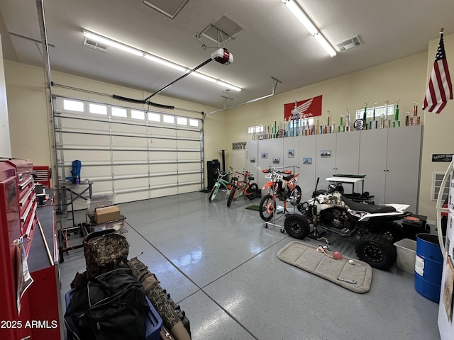
{"type": "Polygon", "coordinates": [[[371,267],[387,270],[397,259],[397,249],[392,241],[384,235],[365,234],[355,245],[358,259],[371,267]]]}

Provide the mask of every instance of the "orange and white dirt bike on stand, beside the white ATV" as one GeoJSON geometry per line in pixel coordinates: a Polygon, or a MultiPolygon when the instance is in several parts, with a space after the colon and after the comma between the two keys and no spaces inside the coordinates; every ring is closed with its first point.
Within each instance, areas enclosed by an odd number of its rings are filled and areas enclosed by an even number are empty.
{"type": "Polygon", "coordinates": [[[277,171],[276,169],[263,169],[262,173],[266,179],[270,179],[263,186],[262,191],[268,191],[260,200],[259,213],[262,220],[268,222],[272,220],[276,210],[276,200],[284,203],[284,212],[287,212],[286,204],[299,204],[301,200],[301,188],[298,186],[299,174],[292,174],[292,170],[277,171]]]}

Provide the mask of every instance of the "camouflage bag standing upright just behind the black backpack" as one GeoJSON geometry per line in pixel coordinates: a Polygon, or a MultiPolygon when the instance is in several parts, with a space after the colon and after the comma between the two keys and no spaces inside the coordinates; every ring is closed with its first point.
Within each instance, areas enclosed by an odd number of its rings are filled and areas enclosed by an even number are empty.
{"type": "Polygon", "coordinates": [[[129,244],[114,229],[92,232],[84,237],[84,256],[87,277],[93,278],[113,271],[128,262],[129,244]]]}

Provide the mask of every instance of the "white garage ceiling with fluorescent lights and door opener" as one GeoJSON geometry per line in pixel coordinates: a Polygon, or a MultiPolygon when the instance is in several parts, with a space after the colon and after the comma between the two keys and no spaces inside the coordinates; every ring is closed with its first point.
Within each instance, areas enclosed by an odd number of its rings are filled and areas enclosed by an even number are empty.
{"type": "MultiPolygon", "coordinates": [[[[227,16],[243,28],[228,42],[234,62],[211,62],[199,72],[243,91],[227,94],[217,84],[186,77],[161,93],[222,108],[224,101],[233,106],[272,93],[271,77],[282,81],[279,94],[425,52],[441,27],[454,33],[453,0],[297,1],[330,42],[359,35],[362,45],[329,57],[281,0],[189,0],[175,19],[143,0],[43,0],[50,68],[153,93],[182,73],[112,47],[106,53],[84,47],[82,29],[192,69],[214,52],[202,50],[201,42],[216,47],[194,35],[227,16]]],[[[33,41],[41,40],[35,1],[1,0],[0,14],[4,57],[43,66],[42,47],[33,41]]]]}

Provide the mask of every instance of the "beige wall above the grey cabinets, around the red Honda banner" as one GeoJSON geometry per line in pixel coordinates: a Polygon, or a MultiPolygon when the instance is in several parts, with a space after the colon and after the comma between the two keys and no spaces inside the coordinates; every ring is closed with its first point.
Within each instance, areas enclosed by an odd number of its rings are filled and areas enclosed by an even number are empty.
{"type": "MultiPolygon", "coordinates": [[[[343,77],[330,79],[284,94],[275,94],[262,101],[233,108],[224,113],[228,117],[228,135],[230,142],[250,140],[248,126],[266,122],[280,122],[284,118],[284,103],[301,101],[313,96],[323,95],[322,117],[326,121],[327,111],[331,111],[331,120],[339,123],[340,115],[345,115],[347,108],[354,113],[364,108],[365,102],[376,101],[377,106],[384,101],[394,103],[400,99],[399,117],[411,111],[415,101],[421,102],[425,91],[427,53],[421,53],[343,77]]],[[[301,74],[301,77],[304,77],[301,74]]],[[[277,86],[277,93],[279,86],[277,86]]]]}

